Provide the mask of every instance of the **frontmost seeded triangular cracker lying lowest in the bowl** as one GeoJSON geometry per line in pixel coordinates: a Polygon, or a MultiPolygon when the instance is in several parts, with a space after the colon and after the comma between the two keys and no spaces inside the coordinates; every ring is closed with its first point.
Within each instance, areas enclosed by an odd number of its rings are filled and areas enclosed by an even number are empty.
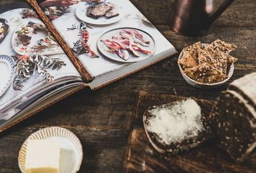
{"type": "Polygon", "coordinates": [[[195,68],[189,68],[184,73],[191,79],[204,84],[217,83],[227,79],[227,75],[221,73],[220,70],[217,70],[208,63],[200,64],[195,68]]]}

